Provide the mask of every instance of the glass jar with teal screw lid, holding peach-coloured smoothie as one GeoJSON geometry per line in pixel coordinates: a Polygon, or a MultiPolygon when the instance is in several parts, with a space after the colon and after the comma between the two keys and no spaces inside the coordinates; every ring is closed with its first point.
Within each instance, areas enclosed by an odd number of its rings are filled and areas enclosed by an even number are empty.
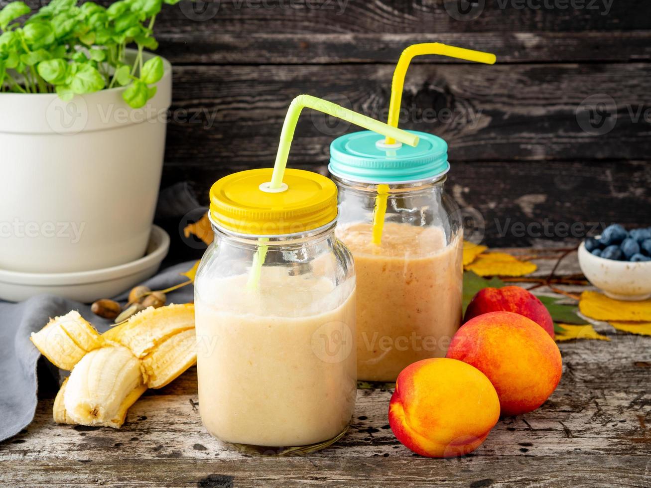
{"type": "Polygon", "coordinates": [[[462,318],[463,228],[444,191],[447,144],[416,133],[415,148],[387,148],[366,131],[331,145],[337,236],[357,271],[357,376],[368,381],[445,356],[462,318]]]}

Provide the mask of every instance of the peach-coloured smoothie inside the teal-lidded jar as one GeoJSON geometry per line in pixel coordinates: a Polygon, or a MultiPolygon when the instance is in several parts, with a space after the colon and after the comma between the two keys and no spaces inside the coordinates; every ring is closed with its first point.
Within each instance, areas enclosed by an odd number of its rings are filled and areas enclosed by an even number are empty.
{"type": "Polygon", "coordinates": [[[385,223],[380,245],[369,223],[338,231],[357,272],[357,376],[395,381],[412,362],[443,357],[460,326],[462,243],[443,228],[385,223]]]}

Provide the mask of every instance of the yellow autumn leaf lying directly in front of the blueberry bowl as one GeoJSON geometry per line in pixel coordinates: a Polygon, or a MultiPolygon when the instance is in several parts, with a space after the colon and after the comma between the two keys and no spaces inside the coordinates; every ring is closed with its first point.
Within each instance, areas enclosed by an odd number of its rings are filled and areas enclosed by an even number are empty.
{"type": "Polygon", "coordinates": [[[651,300],[638,302],[615,300],[598,291],[583,291],[579,300],[579,310],[586,317],[596,320],[651,321],[651,300]]]}

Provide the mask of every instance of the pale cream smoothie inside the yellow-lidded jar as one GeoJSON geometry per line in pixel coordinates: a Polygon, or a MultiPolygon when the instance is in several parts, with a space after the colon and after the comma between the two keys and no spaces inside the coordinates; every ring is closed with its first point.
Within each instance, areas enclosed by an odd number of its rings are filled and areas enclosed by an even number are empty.
{"type": "Polygon", "coordinates": [[[337,437],[355,406],[354,280],[264,267],[206,278],[195,301],[199,410],[222,441],[306,446],[337,437]]]}

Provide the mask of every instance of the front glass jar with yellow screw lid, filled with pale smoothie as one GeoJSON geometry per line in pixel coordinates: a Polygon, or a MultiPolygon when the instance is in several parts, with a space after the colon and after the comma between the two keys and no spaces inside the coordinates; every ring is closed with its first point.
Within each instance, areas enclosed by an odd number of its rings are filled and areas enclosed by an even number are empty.
{"type": "Polygon", "coordinates": [[[245,171],[210,191],[215,240],[195,281],[199,409],[239,450],[298,454],[337,441],[352,418],[355,271],[335,237],[334,183],[286,170],[286,191],[258,190],[270,178],[245,171]]]}

